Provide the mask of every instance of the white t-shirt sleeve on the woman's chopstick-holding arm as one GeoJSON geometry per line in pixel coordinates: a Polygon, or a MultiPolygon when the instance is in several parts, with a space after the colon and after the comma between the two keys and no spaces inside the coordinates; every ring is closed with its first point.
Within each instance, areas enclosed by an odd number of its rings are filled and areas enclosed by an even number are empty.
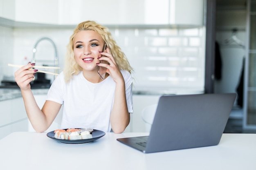
{"type": "Polygon", "coordinates": [[[65,84],[63,72],[54,80],[47,93],[46,100],[63,104],[63,86],[65,84]]]}

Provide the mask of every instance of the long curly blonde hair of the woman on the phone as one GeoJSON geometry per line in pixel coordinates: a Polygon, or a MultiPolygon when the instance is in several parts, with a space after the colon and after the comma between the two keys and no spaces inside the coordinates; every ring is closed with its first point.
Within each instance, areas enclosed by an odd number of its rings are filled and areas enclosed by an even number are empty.
{"type": "Polygon", "coordinates": [[[132,72],[132,67],[130,66],[128,59],[121,48],[117,45],[117,42],[112,37],[109,29],[98,24],[95,21],[85,21],[81,22],[76,26],[74,29],[74,33],[70,36],[69,44],[67,45],[67,52],[65,55],[65,67],[63,70],[65,82],[69,82],[72,79],[73,75],[77,75],[79,72],[82,71],[81,66],[76,63],[74,58],[74,44],[73,40],[76,36],[76,33],[83,30],[92,30],[99,35],[101,35],[104,42],[107,44],[108,48],[110,49],[111,54],[113,55],[115,62],[120,70],[126,70],[130,73],[132,72]]]}

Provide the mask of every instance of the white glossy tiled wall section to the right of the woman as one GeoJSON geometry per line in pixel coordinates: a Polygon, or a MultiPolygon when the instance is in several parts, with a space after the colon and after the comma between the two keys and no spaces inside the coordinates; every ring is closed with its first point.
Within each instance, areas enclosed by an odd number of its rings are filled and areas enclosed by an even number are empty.
{"type": "Polygon", "coordinates": [[[120,29],[124,52],[135,68],[135,90],[204,89],[204,33],[195,29],[120,29]]]}

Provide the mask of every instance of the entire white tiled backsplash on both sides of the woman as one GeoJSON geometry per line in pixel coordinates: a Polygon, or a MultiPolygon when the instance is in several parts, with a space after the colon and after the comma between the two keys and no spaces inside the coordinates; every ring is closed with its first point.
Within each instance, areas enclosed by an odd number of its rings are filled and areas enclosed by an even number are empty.
{"type": "MultiPolygon", "coordinates": [[[[173,91],[177,88],[204,88],[204,28],[110,28],[134,68],[135,91],[173,91]]],[[[64,66],[66,45],[73,29],[9,28],[0,26],[0,79],[13,76],[17,68],[8,63],[26,64],[42,37],[57,47],[59,66],[64,66]]],[[[49,42],[37,46],[36,59],[54,57],[49,42]]],[[[38,64],[38,63],[37,63],[38,64]]],[[[39,64],[38,64],[39,65],[39,64]]],[[[52,77],[48,77],[52,79],[52,77]]]]}

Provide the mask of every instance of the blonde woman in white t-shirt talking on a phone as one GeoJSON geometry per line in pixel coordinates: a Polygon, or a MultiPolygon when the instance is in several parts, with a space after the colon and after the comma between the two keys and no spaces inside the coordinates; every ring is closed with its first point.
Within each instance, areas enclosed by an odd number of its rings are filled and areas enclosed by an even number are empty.
{"type": "Polygon", "coordinates": [[[132,68],[106,27],[85,21],[74,29],[67,45],[65,68],[52,83],[41,110],[29,84],[37,71],[29,70],[34,65],[29,62],[18,69],[15,80],[36,132],[49,128],[62,105],[61,128],[121,133],[128,126],[133,112],[132,68]],[[104,44],[106,52],[102,52],[104,44]],[[107,68],[105,79],[98,75],[98,67],[107,68]]]}

